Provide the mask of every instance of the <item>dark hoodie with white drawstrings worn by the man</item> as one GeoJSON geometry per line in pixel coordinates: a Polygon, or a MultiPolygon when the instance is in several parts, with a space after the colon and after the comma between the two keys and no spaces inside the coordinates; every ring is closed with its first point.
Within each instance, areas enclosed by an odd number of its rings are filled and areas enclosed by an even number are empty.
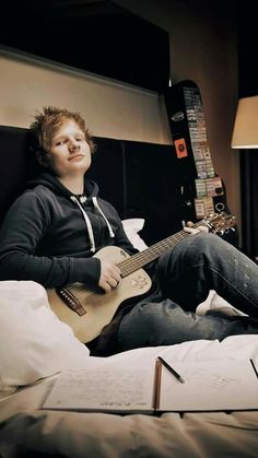
{"type": "Polygon", "coordinates": [[[96,287],[101,262],[94,253],[107,245],[136,253],[117,211],[97,193],[85,180],[84,196],[74,196],[49,173],[30,181],[0,230],[0,280],[96,287]]]}

